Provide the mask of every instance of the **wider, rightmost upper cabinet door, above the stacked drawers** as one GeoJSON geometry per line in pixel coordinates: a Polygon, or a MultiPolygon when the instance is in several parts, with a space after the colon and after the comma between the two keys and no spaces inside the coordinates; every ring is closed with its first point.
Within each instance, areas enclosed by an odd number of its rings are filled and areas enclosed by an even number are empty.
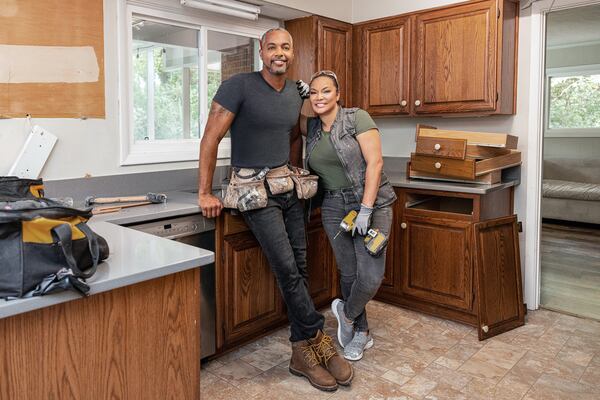
{"type": "Polygon", "coordinates": [[[495,0],[416,16],[414,111],[494,111],[498,19],[495,0]]]}

